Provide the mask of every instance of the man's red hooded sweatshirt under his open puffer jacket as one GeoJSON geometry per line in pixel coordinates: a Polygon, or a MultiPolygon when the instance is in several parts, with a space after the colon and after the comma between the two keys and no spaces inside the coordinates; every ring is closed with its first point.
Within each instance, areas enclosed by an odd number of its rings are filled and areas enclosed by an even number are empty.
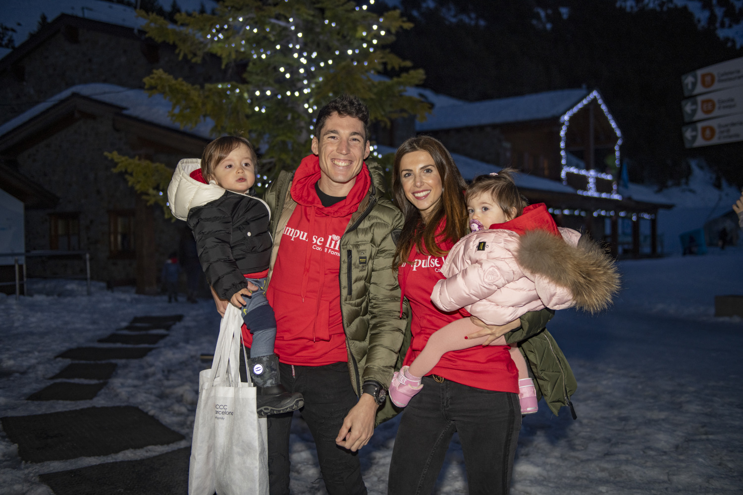
{"type": "MultiPolygon", "coordinates": [[[[282,232],[266,296],[276,313],[279,361],[322,366],[348,361],[340,310],[340,237],[351,214],[369,192],[366,164],[353,188],[333,206],[322,206],[315,184],[319,159],[310,155],[294,173],[291,197],[297,206],[282,232]]],[[[252,335],[245,335],[247,345],[252,335]]]]}

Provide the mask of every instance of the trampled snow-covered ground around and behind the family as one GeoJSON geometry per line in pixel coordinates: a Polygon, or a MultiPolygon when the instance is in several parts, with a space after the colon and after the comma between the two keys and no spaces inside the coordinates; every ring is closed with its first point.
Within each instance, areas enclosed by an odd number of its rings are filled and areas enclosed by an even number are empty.
{"type": "MultiPolygon", "coordinates": [[[[743,486],[743,320],[715,318],[714,296],[743,294],[743,248],[704,257],[626,260],[624,290],[610,312],[558,312],[550,330],[579,388],[577,421],[542,407],[524,420],[513,494],[732,494],[743,486]],[[736,467],[737,466],[737,467],[736,467]]],[[[0,433],[0,494],[51,494],[39,473],[142,459],[189,445],[198,355],[215,342],[209,301],[167,304],[163,297],[106,292],[84,283],[30,284],[36,295],[0,295],[0,416],[131,404],[183,433],[172,445],[111,456],[22,463],[0,433]],[[54,294],[54,295],[41,295],[54,294]],[[91,401],[25,401],[62,369],[53,356],[123,327],[133,316],[182,313],[169,337],[142,359],[119,361],[91,401]]],[[[361,451],[369,494],[386,493],[398,420],[378,427],[361,451]]],[[[296,416],[291,440],[293,494],[325,494],[311,435],[296,416]]],[[[436,494],[466,494],[455,439],[436,494]]]]}

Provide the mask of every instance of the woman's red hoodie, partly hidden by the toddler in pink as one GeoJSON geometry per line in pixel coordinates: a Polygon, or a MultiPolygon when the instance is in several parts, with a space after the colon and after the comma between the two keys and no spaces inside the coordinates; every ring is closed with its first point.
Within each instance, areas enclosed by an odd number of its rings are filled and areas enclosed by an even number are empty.
{"type": "MultiPolygon", "coordinates": [[[[443,230],[442,228],[439,229],[443,230]]],[[[439,243],[448,251],[454,246],[450,240],[439,243]]],[[[400,266],[398,281],[404,297],[408,298],[412,311],[412,341],[405,355],[404,365],[409,365],[421,353],[433,332],[452,321],[466,318],[470,313],[464,309],[443,312],[431,302],[431,292],[436,282],[444,278],[441,266],[446,256],[436,258],[419,253],[415,248],[408,263],[400,266]]],[[[441,356],[438,364],[429,372],[470,387],[501,392],[519,392],[519,373],[510,358],[507,346],[472,347],[450,351],[441,356]]]]}

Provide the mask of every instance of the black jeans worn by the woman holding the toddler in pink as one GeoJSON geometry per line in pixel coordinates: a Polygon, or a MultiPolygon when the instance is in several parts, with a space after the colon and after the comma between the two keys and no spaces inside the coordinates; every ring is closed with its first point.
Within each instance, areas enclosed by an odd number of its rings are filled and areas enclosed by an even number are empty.
{"type": "Polygon", "coordinates": [[[423,384],[400,420],[388,495],[430,494],[454,432],[464,453],[469,494],[507,494],[521,430],[518,394],[438,383],[430,376],[423,384]]]}

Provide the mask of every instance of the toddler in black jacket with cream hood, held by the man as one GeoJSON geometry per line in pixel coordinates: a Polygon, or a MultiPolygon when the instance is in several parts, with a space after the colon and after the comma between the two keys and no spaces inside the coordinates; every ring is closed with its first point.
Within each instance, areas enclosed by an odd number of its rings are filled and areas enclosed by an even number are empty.
{"type": "Polygon", "coordinates": [[[204,148],[201,168],[189,174],[191,180],[182,178],[184,191],[195,187],[194,194],[186,191],[179,195],[176,190],[174,197],[175,201],[189,201],[186,222],[212,291],[242,310],[253,334],[247,367],[258,387],[258,413],[267,416],[299,409],[304,401],[302,394],[289,393],[281,384],[279,359],[273,353],[276,318],[265,296],[273,242],[268,206],[253,196],[257,165],[256,152],[248,140],[220,137],[204,148]],[[208,181],[209,185],[199,191],[194,180],[208,181]],[[248,281],[259,290],[248,289],[248,281]]]}

